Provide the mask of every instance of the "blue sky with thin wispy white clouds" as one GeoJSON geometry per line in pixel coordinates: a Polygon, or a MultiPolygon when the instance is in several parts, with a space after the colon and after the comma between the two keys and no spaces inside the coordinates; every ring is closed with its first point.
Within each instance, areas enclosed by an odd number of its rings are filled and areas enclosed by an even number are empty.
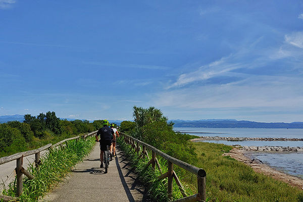
{"type": "Polygon", "coordinates": [[[303,3],[0,0],[0,94],[0,115],[303,121],[303,3]]]}

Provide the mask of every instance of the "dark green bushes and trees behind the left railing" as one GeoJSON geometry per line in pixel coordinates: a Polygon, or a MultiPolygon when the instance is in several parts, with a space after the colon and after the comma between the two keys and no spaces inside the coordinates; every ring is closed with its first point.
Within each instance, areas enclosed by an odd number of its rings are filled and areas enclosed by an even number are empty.
{"type": "Polygon", "coordinates": [[[27,114],[24,123],[11,121],[0,124],[0,157],[35,149],[48,143],[79,134],[92,132],[100,127],[100,120],[67,121],[56,117],[55,112],[40,113],[37,117],[27,114]]]}

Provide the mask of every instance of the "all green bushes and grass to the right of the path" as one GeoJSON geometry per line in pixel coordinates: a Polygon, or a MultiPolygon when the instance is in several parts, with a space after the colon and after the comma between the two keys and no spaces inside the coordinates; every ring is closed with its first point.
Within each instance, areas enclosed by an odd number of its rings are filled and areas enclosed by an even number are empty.
{"type": "MultiPolygon", "coordinates": [[[[135,122],[121,123],[122,132],[153,145],[172,157],[206,170],[207,201],[303,202],[302,190],[256,173],[250,167],[230,157],[223,157],[222,154],[228,152],[231,146],[187,141],[196,136],[175,133],[172,130],[173,123],[167,123],[167,118],[163,117],[160,110],[153,107],[148,109],[134,107],[133,116],[135,122]]],[[[160,176],[159,171],[144,170],[147,160],[137,160],[136,154],[130,154],[129,147],[125,145],[122,147],[129,153],[134,168],[153,198],[156,201],[167,201],[167,182],[157,181],[156,177],[160,176]]],[[[163,160],[160,162],[165,172],[166,162],[163,160]]],[[[187,184],[187,187],[196,193],[196,176],[177,166],[174,170],[178,176],[181,176],[183,185],[187,184]]],[[[174,198],[182,197],[178,194],[179,192],[174,190],[174,198]]]]}

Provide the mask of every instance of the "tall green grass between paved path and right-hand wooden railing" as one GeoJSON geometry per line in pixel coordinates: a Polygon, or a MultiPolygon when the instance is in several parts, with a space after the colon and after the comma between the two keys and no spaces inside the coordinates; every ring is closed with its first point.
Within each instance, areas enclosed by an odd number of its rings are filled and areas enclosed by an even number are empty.
{"type": "MultiPolygon", "coordinates": [[[[160,168],[162,170],[162,173],[158,168],[156,170],[153,170],[151,166],[148,168],[145,168],[148,160],[147,158],[140,158],[137,155],[137,153],[131,148],[130,145],[126,144],[122,138],[119,138],[118,140],[119,147],[124,151],[124,155],[126,155],[132,165],[132,168],[135,169],[135,172],[138,174],[140,181],[144,184],[145,188],[147,189],[147,192],[150,196],[150,198],[154,201],[168,201],[167,196],[167,178],[159,180],[158,177],[166,173],[168,171],[168,163],[165,159],[161,157],[157,157],[160,168]]],[[[151,157],[151,154],[149,154],[149,157],[151,157]]],[[[175,170],[176,174],[179,176],[178,170],[175,170]]],[[[182,178],[180,178],[182,181],[182,178]]],[[[193,191],[189,188],[187,185],[183,185],[186,195],[192,195],[194,194],[193,191]]],[[[173,180],[173,199],[182,198],[182,194],[175,182],[173,180]]]]}

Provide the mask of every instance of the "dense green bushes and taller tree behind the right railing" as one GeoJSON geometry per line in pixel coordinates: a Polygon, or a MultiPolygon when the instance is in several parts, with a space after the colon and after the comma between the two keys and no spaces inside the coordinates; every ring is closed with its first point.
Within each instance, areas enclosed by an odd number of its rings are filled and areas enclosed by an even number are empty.
{"type": "Polygon", "coordinates": [[[175,133],[173,122],[154,107],[133,107],[134,121],[123,121],[120,130],[181,161],[195,165],[197,155],[189,139],[197,136],[175,133]]]}

